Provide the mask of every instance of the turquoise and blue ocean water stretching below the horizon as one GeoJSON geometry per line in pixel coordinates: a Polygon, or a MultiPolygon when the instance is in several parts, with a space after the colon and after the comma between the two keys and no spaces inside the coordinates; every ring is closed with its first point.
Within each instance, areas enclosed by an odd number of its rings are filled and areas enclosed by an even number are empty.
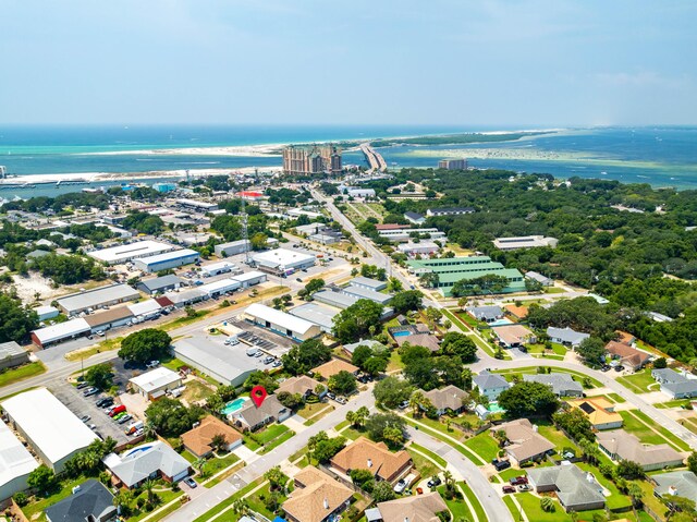
{"type": "MultiPolygon", "coordinates": [[[[235,169],[281,165],[280,157],[149,155],[137,150],[219,147],[274,143],[308,143],[369,137],[514,131],[467,126],[0,126],[0,165],[14,174],[152,172],[189,169],[235,169]],[[133,154],[99,155],[121,151],[133,154]]],[[[531,129],[531,128],[527,128],[531,129]]],[[[697,189],[697,128],[576,129],[517,142],[466,146],[394,146],[380,149],[390,167],[436,167],[442,156],[467,157],[472,149],[502,149],[503,157],[470,159],[479,168],[545,172],[697,189]],[[424,149],[436,150],[424,156],[424,149]],[[536,159],[512,159],[516,149],[533,150],[536,159]],[[454,151],[453,151],[454,150],[454,151]],[[510,154],[509,154],[510,153],[510,154]],[[578,156],[585,159],[577,159],[578,156]],[[588,160],[590,159],[590,160],[588,160]]],[[[501,155],[499,155],[501,156],[501,155]]],[[[364,165],[359,153],[345,153],[344,163],[364,165]]],[[[154,180],[157,177],[154,177],[154,180]]],[[[98,183],[107,184],[107,183],[98,183]]],[[[38,186],[38,185],[37,185],[38,186]]],[[[1,197],[27,197],[76,190],[3,189],[1,197]]]]}

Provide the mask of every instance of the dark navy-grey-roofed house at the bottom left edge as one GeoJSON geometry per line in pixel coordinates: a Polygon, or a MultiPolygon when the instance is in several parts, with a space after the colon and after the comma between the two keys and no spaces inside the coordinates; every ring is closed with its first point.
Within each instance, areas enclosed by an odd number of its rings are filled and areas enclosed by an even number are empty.
{"type": "Polygon", "coordinates": [[[85,481],[73,494],[44,511],[49,522],[108,522],[115,519],[113,495],[95,478],[85,481]]]}

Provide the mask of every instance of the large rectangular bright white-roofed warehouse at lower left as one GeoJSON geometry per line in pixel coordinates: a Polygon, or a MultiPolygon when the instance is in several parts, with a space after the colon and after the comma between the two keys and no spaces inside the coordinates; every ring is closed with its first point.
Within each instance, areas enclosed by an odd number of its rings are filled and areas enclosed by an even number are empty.
{"type": "Polygon", "coordinates": [[[9,423],[56,473],[98,437],[46,388],[2,401],[9,423]]]}

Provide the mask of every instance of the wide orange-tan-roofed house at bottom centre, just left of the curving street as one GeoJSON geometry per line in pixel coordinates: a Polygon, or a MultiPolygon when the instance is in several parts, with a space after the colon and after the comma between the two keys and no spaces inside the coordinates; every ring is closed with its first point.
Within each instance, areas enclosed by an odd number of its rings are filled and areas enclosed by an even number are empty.
{"type": "Polygon", "coordinates": [[[412,469],[412,458],[404,450],[392,452],[384,442],[359,437],[337,453],[331,465],[344,475],[351,470],[368,470],[376,478],[393,483],[412,469]]]}

